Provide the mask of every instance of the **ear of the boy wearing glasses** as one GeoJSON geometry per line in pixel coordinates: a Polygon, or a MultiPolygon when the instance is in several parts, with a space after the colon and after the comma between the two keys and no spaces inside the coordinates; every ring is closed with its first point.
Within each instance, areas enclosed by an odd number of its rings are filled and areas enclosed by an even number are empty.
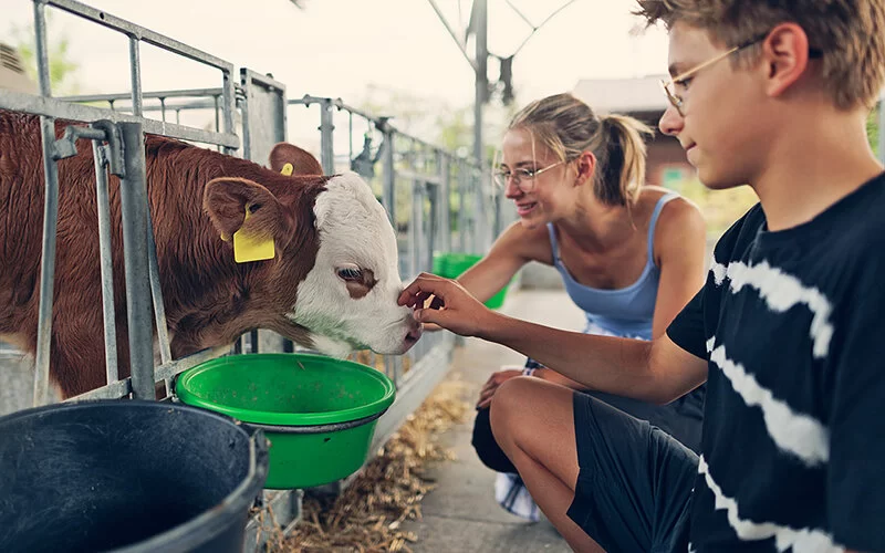
{"type": "Polygon", "coordinates": [[[780,96],[799,81],[809,65],[809,38],[796,23],[781,23],[762,42],[762,62],[769,96],[780,96]]]}

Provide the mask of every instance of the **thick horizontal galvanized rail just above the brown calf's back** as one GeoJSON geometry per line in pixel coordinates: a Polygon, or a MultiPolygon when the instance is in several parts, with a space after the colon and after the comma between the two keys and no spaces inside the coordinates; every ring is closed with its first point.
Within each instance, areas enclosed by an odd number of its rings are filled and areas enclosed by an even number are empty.
{"type": "Polygon", "coordinates": [[[160,123],[153,119],[142,119],[134,115],[115,112],[112,109],[62,102],[58,98],[34,96],[13,91],[2,91],[0,93],[0,109],[12,112],[24,112],[48,117],[58,117],[70,121],[96,121],[108,119],[114,123],[140,122],[145,133],[165,135],[181,140],[192,140],[206,144],[217,144],[227,148],[237,149],[240,147],[240,137],[229,133],[212,133],[198,128],[174,125],[171,123],[160,123]]]}

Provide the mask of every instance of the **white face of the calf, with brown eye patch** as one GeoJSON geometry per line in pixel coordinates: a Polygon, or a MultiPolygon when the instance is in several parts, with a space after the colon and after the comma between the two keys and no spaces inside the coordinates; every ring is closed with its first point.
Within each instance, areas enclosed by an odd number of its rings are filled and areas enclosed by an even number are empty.
{"type": "Polygon", "coordinates": [[[344,356],[371,348],[405,353],[420,337],[403,290],[394,229],[355,173],[332,177],[314,205],[320,249],[299,284],[289,319],[309,328],[316,349],[344,356]]]}

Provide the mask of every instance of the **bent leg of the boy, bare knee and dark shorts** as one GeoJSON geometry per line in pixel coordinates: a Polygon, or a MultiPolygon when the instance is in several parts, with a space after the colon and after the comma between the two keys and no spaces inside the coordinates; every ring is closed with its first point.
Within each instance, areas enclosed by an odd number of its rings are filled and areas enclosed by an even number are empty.
{"type": "Polygon", "coordinates": [[[575,551],[686,551],[697,457],[585,394],[513,378],[492,432],[532,498],[575,551]]]}

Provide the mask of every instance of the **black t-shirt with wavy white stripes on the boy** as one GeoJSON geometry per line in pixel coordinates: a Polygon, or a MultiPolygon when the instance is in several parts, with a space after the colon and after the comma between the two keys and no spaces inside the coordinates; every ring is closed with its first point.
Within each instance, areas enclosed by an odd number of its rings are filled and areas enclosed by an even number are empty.
{"type": "Polygon", "coordinates": [[[690,550],[885,551],[885,174],[714,257],[667,328],[709,366],[690,550]]]}

